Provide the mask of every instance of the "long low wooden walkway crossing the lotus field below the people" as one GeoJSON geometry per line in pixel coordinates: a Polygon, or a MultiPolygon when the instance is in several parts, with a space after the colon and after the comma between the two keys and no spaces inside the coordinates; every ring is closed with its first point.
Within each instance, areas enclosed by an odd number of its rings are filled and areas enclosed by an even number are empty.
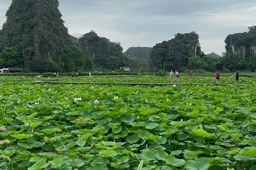
{"type": "MultiPolygon", "coordinates": [[[[61,82],[54,80],[37,80],[37,83],[49,83],[49,84],[99,84],[99,85],[130,85],[130,86],[173,86],[173,85],[183,85],[183,86],[197,86],[197,85],[207,85],[207,86],[235,86],[236,84],[172,84],[172,83],[101,83],[101,82],[61,82]]],[[[251,86],[251,84],[239,84],[239,86],[251,86]]]]}

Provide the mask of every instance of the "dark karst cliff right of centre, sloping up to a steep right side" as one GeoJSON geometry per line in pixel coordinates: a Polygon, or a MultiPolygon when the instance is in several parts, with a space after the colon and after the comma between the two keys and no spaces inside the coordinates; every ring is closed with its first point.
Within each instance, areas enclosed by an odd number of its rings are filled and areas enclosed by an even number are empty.
{"type": "Polygon", "coordinates": [[[158,69],[180,69],[188,64],[189,57],[202,55],[199,35],[176,34],[174,39],[157,43],[150,54],[151,67],[158,69]]]}

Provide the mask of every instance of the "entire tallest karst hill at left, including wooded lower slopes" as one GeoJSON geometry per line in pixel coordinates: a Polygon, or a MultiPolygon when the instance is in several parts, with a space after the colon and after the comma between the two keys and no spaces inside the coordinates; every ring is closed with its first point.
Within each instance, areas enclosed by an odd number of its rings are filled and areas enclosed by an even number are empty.
{"type": "Polygon", "coordinates": [[[13,46],[17,61],[6,63],[6,55],[1,55],[2,67],[20,66],[37,72],[92,68],[89,55],[76,47],[68,34],[58,7],[58,0],[12,1],[0,30],[0,52],[13,46]],[[83,61],[78,62],[78,56],[83,61]]]}

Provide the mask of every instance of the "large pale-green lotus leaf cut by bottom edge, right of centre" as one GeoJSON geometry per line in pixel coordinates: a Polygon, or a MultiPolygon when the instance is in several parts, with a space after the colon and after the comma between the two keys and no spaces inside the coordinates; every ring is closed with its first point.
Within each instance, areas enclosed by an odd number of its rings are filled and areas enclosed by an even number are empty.
{"type": "Polygon", "coordinates": [[[187,160],[186,170],[207,170],[210,167],[209,158],[201,158],[200,160],[187,160]]]}

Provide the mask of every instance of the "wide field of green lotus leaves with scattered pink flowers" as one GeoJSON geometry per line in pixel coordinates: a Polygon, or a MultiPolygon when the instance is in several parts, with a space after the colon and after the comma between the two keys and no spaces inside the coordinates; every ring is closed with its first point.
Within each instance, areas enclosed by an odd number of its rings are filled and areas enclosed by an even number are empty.
{"type": "MultiPolygon", "coordinates": [[[[255,78],[241,78],[250,86],[223,87],[32,80],[1,79],[1,170],[256,169],[255,78]]],[[[129,80],[169,83],[168,77],[129,80]]],[[[180,79],[198,81],[215,79],[180,79]]]]}

